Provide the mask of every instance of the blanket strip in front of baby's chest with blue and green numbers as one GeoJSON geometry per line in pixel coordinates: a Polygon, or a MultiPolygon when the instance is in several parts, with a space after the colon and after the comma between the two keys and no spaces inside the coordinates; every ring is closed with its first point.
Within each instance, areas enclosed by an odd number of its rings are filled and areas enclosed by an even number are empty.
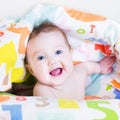
{"type": "Polygon", "coordinates": [[[120,120],[120,100],[1,96],[1,120],[120,120]]]}

